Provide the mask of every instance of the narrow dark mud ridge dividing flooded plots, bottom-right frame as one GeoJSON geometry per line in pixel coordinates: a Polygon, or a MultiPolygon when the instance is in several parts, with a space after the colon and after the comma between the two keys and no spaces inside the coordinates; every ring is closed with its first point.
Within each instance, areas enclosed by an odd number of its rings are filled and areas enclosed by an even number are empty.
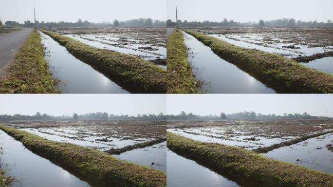
{"type": "Polygon", "coordinates": [[[325,134],[329,134],[329,133],[333,133],[333,131],[325,131],[325,132],[319,132],[319,133],[316,133],[316,134],[306,135],[306,136],[291,139],[291,140],[288,140],[288,141],[285,141],[285,142],[281,142],[279,144],[273,144],[269,147],[257,148],[253,151],[258,152],[258,153],[266,153],[268,151],[275,150],[277,148],[281,148],[281,147],[285,147],[285,146],[291,146],[293,144],[297,144],[297,143],[302,142],[304,140],[314,138],[314,137],[318,137],[318,136],[325,135],[325,134]]]}

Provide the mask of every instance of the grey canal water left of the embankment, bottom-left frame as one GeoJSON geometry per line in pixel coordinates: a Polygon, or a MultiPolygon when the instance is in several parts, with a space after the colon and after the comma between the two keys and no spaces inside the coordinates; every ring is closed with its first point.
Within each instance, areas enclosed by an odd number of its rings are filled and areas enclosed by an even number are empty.
{"type": "Polygon", "coordinates": [[[0,144],[3,167],[7,174],[19,180],[14,187],[90,187],[68,171],[27,150],[1,130],[0,144]]]}

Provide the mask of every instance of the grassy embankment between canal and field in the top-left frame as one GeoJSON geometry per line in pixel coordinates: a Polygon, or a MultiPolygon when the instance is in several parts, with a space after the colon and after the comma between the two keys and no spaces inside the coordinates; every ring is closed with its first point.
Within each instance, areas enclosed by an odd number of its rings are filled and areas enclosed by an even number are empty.
{"type": "Polygon", "coordinates": [[[111,78],[131,93],[166,93],[166,71],[136,56],[91,47],[80,41],[41,30],[76,58],[111,78]]]}

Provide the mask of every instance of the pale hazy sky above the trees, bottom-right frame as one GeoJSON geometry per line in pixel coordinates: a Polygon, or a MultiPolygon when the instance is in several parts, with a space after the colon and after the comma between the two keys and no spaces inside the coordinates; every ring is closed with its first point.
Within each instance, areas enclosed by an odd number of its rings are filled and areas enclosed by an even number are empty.
{"type": "Polygon", "coordinates": [[[333,116],[333,94],[168,94],[166,112],[219,114],[254,111],[262,114],[303,113],[333,116]]]}

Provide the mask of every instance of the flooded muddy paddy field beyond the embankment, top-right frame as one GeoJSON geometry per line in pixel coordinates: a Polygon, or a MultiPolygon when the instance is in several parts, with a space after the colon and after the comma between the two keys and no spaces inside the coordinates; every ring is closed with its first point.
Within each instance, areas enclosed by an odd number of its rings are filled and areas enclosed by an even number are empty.
{"type": "MultiPolygon", "coordinates": [[[[190,28],[222,39],[234,45],[275,53],[287,58],[295,58],[310,68],[332,74],[333,63],[329,56],[320,54],[333,51],[333,27],[205,27],[190,28]],[[317,58],[310,63],[299,57],[317,58]],[[297,57],[299,59],[297,59],[297,57]]],[[[330,55],[331,56],[331,55],[330,55]]]]}

